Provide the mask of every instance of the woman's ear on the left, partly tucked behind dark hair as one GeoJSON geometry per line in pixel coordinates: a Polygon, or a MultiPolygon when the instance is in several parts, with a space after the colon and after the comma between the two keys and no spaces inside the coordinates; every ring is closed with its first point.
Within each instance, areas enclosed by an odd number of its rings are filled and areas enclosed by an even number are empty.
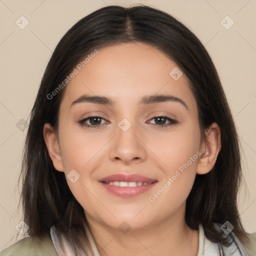
{"type": "Polygon", "coordinates": [[[58,171],[64,171],[58,137],[49,123],[45,123],[43,126],[43,137],[55,169],[58,171]]]}

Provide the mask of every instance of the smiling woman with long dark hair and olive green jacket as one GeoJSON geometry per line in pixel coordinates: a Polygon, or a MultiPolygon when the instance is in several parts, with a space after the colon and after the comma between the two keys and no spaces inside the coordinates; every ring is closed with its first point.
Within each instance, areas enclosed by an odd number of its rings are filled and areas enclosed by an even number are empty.
{"type": "Polygon", "coordinates": [[[216,69],[194,34],[148,6],[98,9],[62,37],[22,177],[30,237],[1,255],[255,253],[216,69]]]}

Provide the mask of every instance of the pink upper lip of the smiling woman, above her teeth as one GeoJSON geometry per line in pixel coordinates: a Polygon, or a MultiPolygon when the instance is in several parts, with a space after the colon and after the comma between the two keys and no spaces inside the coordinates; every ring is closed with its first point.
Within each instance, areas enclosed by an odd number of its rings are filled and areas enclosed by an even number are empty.
{"type": "Polygon", "coordinates": [[[157,181],[156,179],[151,179],[139,174],[123,174],[123,173],[117,173],[117,174],[112,174],[106,177],[103,177],[99,179],[99,181],[105,181],[105,182],[110,182],[110,181],[125,181],[125,182],[154,182],[157,181]]]}

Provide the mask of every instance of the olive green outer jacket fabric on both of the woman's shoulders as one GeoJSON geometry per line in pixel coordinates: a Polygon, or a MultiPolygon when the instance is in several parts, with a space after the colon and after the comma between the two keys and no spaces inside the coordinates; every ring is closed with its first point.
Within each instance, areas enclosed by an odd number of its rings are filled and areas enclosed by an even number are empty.
{"type": "MultiPolygon", "coordinates": [[[[249,244],[243,245],[249,256],[256,256],[256,232],[249,234],[249,244]]],[[[43,238],[26,237],[0,251],[0,256],[58,256],[50,235],[43,238]]]]}

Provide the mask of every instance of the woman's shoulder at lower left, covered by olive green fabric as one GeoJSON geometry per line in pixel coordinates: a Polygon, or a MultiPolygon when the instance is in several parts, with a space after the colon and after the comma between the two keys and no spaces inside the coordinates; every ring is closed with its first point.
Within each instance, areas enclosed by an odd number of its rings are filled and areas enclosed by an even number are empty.
{"type": "Polygon", "coordinates": [[[26,237],[0,251],[0,256],[58,256],[50,235],[26,237]]]}

